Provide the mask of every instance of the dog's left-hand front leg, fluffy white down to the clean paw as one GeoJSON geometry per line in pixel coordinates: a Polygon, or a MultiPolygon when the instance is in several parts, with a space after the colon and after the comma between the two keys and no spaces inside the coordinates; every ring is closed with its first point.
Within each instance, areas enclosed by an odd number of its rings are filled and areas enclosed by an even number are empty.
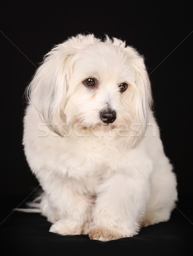
{"type": "Polygon", "coordinates": [[[64,184],[63,187],[57,188],[56,193],[50,195],[50,201],[60,216],[60,219],[51,226],[50,232],[60,235],[88,233],[94,198],[80,194],[64,184]]]}

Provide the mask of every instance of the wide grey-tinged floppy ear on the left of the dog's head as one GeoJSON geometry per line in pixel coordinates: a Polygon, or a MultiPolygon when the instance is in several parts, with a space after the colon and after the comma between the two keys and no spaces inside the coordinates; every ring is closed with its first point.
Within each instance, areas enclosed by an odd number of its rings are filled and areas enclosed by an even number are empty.
{"type": "Polygon", "coordinates": [[[30,103],[51,131],[62,136],[61,106],[68,100],[68,81],[72,72],[74,50],[70,41],[59,44],[45,55],[31,83],[26,89],[30,103]]]}

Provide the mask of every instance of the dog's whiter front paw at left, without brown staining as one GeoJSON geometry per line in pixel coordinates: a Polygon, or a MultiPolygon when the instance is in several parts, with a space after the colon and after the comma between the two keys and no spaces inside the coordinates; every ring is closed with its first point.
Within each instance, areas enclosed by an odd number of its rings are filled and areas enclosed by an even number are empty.
{"type": "Polygon", "coordinates": [[[80,235],[82,226],[78,225],[77,221],[59,220],[51,226],[49,231],[63,236],[80,235]]]}

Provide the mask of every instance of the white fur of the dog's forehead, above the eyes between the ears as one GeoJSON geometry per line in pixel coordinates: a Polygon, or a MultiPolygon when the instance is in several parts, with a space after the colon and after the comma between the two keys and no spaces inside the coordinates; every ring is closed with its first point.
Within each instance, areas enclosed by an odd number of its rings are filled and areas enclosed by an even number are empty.
{"type": "Polygon", "coordinates": [[[89,76],[102,81],[113,79],[117,84],[134,78],[129,56],[107,42],[85,45],[74,59],[74,74],[82,79],[89,76]]]}

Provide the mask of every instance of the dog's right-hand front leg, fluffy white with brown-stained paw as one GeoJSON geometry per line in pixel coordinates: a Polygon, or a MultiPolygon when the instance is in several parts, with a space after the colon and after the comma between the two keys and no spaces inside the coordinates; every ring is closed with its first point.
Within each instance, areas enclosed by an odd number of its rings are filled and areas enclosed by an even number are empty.
{"type": "Polygon", "coordinates": [[[116,172],[97,192],[89,237],[108,241],[136,235],[150,197],[148,179],[136,170],[133,176],[116,172]]]}

